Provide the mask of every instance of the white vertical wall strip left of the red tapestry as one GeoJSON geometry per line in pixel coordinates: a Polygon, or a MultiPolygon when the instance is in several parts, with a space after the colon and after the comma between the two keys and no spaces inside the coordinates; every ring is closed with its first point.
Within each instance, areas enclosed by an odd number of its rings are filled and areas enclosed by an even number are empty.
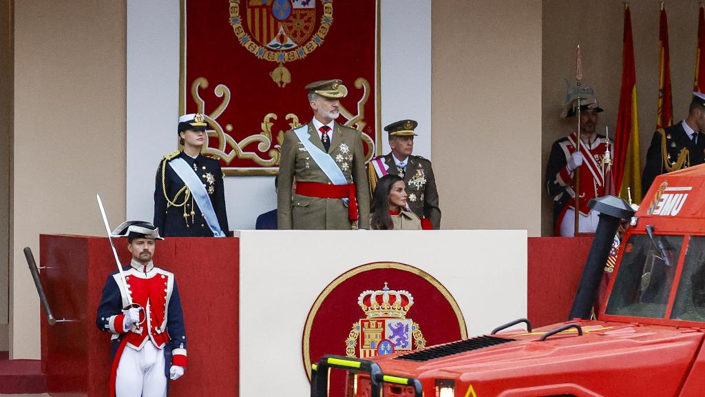
{"type": "Polygon", "coordinates": [[[179,1],[128,0],[128,219],[153,219],[154,175],[178,146],[179,1]]]}

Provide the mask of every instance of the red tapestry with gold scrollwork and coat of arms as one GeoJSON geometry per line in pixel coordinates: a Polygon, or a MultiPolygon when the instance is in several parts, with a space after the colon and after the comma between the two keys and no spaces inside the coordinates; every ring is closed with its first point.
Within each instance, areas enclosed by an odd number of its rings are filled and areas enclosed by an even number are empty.
{"type": "Polygon", "coordinates": [[[181,114],[202,113],[226,175],[278,172],[283,133],[312,119],[305,85],[340,78],[336,122],[379,142],[376,0],[182,0],[181,114]]]}

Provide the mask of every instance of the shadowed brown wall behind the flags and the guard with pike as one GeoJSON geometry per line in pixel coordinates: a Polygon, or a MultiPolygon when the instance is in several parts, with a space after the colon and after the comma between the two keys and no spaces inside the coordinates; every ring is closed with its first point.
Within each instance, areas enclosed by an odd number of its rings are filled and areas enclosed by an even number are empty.
{"type": "MultiPolygon", "coordinates": [[[[698,1],[666,1],[670,42],[670,68],[673,82],[673,118],[687,115],[692,97],[697,40],[698,1]]],[[[632,33],[637,68],[639,141],[642,168],[656,125],[658,100],[658,1],[631,1],[632,33]]],[[[575,82],[575,47],[580,44],[583,83],[595,89],[605,112],[599,131],[617,124],[622,76],[622,1],[544,0],[543,40],[543,141],[542,173],[545,172],[551,143],[574,129],[575,119],[559,119],[565,97],[563,78],[575,82]]],[[[551,199],[545,192],[541,230],[551,235],[551,199]]]]}

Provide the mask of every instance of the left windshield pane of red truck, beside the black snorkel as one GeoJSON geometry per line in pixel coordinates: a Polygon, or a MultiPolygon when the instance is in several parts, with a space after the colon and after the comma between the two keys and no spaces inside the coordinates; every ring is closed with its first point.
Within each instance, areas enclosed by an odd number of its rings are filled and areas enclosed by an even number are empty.
{"type": "Polygon", "coordinates": [[[625,244],[605,314],[662,319],[683,243],[682,236],[632,235],[625,244]]]}

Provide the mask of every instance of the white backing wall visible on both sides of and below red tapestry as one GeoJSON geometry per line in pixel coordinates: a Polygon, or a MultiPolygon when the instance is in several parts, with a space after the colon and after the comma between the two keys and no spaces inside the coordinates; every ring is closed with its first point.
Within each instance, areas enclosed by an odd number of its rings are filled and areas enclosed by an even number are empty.
{"type": "MultiPolygon", "coordinates": [[[[152,220],[154,172],[176,150],[179,1],[128,0],[127,217],[152,220]]],[[[431,1],[381,2],[381,125],[419,122],[415,154],[431,156],[431,1]],[[413,23],[410,23],[410,20],[413,23]]],[[[383,151],[388,153],[386,136],[383,151]]],[[[274,177],[226,177],[231,230],[276,206],[274,177]]]]}

